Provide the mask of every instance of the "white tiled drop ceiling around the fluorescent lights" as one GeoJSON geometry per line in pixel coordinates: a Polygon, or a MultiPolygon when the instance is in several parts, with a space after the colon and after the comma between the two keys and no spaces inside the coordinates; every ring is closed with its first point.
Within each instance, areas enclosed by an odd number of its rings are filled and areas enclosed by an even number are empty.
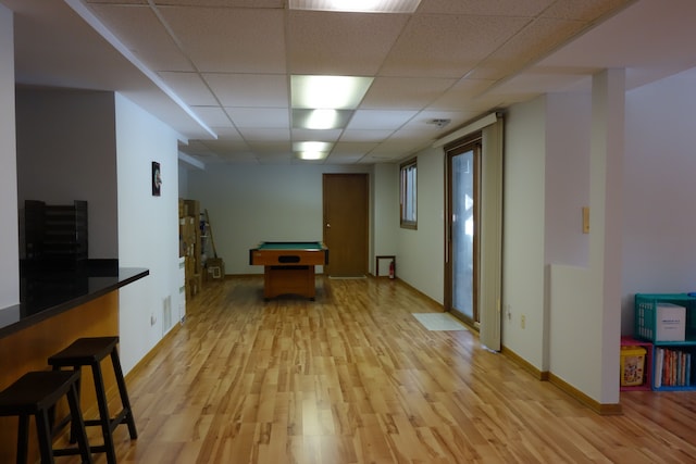
{"type": "Polygon", "coordinates": [[[293,143],[310,140],[333,147],[314,163],[398,162],[490,111],[586,91],[602,68],[625,67],[635,87],[696,65],[691,0],[421,0],[413,13],[286,0],[0,4],[15,12],[18,85],[119,91],[181,134],[199,165],[304,163],[293,143]],[[373,83],[345,128],[301,129],[293,74],[373,83]]]}

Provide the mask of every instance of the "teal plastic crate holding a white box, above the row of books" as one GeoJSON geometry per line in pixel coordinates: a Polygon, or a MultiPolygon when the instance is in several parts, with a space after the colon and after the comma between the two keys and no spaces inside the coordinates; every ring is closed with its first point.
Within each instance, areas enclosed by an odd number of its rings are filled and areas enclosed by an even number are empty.
{"type": "MultiPolygon", "coordinates": [[[[635,294],[635,330],[634,336],[643,340],[660,342],[657,340],[657,305],[658,303],[672,303],[686,308],[686,338],[685,342],[696,340],[696,297],[687,293],[636,293],[635,294]]],[[[663,341],[664,343],[672,343],[663,341]]],[[[680,343],[680,342],[673,342],[680,343]]]]}

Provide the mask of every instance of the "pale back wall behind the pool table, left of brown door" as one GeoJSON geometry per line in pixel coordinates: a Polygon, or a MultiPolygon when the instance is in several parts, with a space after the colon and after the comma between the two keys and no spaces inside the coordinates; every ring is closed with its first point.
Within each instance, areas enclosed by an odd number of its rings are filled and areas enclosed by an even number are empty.
{"type": "Polygon", "coordinates": [[[371,172],[361,165],[214,165],[188,172],[188,198],[208,210],[225,274],[262,274],[262,266],[249,265],[249,250],[260,241],[323,239],[322,174],[371,172]]]}

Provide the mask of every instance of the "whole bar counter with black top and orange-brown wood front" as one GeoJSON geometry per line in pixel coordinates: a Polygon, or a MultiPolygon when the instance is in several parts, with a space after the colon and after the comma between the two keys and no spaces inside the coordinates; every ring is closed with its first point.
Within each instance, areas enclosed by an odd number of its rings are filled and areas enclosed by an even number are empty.
{"type": "MultiPolygon", "coordinates": [[[[79,337],[117,336],[117,290],[150,274],[146,268],[119,267],[116,260],[90,260],[69,268],[20,267],[21,302],[0,309],[0,389],[26,372],[47,369],[48,358],[79,337]]],[[[109,391],[115,386],[113,369],[103,368],[109,391]]],[[[96,410],[91,384],[83,383],[84,412],[96,410]]],[[[29,454],[36,457],[33,428],[29,454]]],[[[0,430],[0,462],[14,462],[16,419],[1,417],[0,430]]]]}

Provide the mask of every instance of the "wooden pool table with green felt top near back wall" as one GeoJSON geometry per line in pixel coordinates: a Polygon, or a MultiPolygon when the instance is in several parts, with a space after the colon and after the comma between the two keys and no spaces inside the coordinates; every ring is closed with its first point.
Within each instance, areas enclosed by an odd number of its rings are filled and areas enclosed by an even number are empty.
{"type": "Polygon", "coordinates": [[[263,299],[299,294],[314,300],[314,266],[328,264],[321,241],[262,241],[249,250],[249,264],[263,266],[263,299]]]}

